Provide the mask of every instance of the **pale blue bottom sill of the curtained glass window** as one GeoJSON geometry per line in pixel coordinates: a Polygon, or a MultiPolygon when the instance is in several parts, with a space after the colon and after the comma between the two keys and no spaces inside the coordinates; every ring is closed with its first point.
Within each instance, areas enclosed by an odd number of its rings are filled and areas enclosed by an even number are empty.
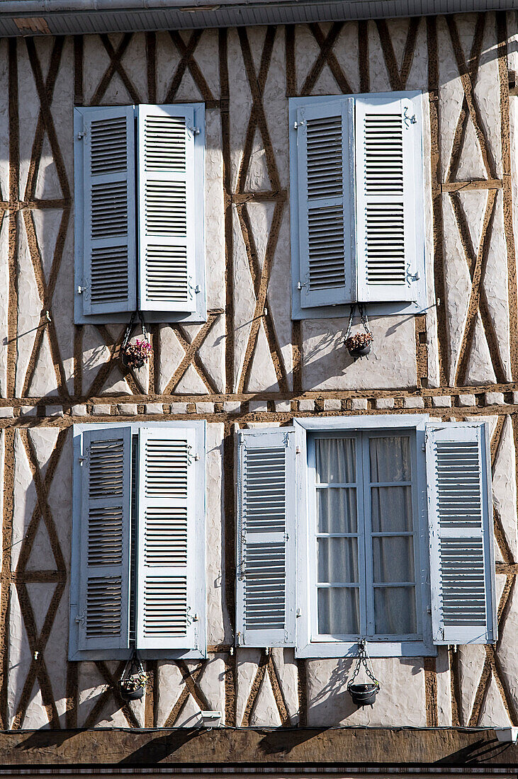
{"type": "MultiPolygon", "coordinates": [[[[369,657],[435,657],[437,647],[425,641],[368,641],[369,657]]],[[[326,641],[295,647],[295,657],[311,660],[321,657],[356,657],[357,642],[326,641]]]]}

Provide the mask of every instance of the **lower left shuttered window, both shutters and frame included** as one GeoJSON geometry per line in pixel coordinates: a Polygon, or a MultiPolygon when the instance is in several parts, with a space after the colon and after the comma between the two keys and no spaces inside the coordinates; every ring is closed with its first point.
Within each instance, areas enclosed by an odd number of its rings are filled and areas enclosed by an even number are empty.
{"type": "Polygon", "coordinates": [[[205,426],[74,426],[70,660],[203,657],[205,426]]]}

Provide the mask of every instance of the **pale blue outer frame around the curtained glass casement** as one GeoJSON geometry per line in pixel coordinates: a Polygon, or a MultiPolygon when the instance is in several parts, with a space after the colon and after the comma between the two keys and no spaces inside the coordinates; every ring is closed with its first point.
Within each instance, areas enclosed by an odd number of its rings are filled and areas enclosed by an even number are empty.
{"type": "MultiPolygon", "coordinates": [[[[368,652],[372,657],[422,657],[435,656],[437,647],[432,642],[432,605],[430,595],[430,571],[428,552],[428,510],[426,497],[425,425],[428,414],[393,414],[348,418],[296,418],[294,419],[297,439],[297,643],[296,657],[354,657],[358,652],[358,640],[312,640],[312,619],[315,614],[316,577],[312,573],[315,565],[310,553],[312,527],[309,513],[310,480],[308,474],[308,433],[311,432],[411,432],[414,438],[414,460],[417,472],[414,474],[414,528],[418,543],[418,560],[415,561],[416,587],[420,597],[421,614],[425,615],[421,625],[421,639],[368,640],[368,652]],[[419,566],[418,566],[419,562],[419,566]]],[[[419,619],[419,615],[418,615],[419,619]]]]}

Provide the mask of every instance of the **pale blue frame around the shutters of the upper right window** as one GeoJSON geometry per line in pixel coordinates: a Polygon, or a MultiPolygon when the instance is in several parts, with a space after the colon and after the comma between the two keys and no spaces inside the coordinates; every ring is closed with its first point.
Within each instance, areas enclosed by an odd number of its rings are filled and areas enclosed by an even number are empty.
{"type": "MultiPolygon", "coordinates": [[[[299,197],[298,197],[298,153],[297,153],[297,120],[298,111],[301,108],[307,108],[309,106],[323,105],[329,103],[341,104],[344,101],[352,101],[357,98],[389,98],[397,99],[398,97],[407,97],[410,100],[420,100],[422,106],[422,115],[425,116],[425,96],[418,90],[405,90],[400,92],[380,92],[380,93],[361,93],[356,95],[319,95],[315,97],[291,97],[288,101],[289,104],[289,148],[290,148],[290,205],[291,205],[291,318],[292,319],[326,319],[330,317],[345,317],[349,315],[350,305],[317,305],[308,308],[301,307],[301,289],[298,288],[301,276],[301,263],[299,255],[299,241],[300,241],[300,229],[299,229],[299,197]]],[[[425,160],[423,158],[422,146],[423,146],[423,131],[425,128],[424,122],[421,124],[421,146],[418,148],[416,144],[416,158],[414,164],[421,165],[423,169],[423,182],[428,181],[428,176],[425,175],[425,160]]],[[[354,150],[352,152],[354,154],[354,150]]],[[[354,170],[350,170],[351,177],[354,175],[354,170]]],[[[351,188],[354,189],[354,188],[351,188]]],[[[427,306],[432,303],[432,292],[427,293],[426,284],[426,268],[430,265],[430,262],[426,259],[427,253],[427,241],[425,240],[425,207],[424,207],[424,188],[417,188],[416,195],[416,213],[421,213],[422,224],[417,223],[418,229],[421,230],[422,245],[424,250],[422,256],[416,258],[416,270],[419,274],[419,280],[417,282],[417,298],[416,301],[387,301],[387,302],[372,302],[368,303],[368,313],[370,315],[389,316],[397,314],[418,314],[426,310],[427,306]]],[[[351,209],[347,218],[351,224],[356,222],[356,213],[354,205],[354,197],[351,197],[351,209]]],[[[354,244],[354,241],[353,241],[354,244]]],[[[351,274],[354,274],[356,278],[356,256],[354,245],[352,247],[352,267],[351,274]]]]}

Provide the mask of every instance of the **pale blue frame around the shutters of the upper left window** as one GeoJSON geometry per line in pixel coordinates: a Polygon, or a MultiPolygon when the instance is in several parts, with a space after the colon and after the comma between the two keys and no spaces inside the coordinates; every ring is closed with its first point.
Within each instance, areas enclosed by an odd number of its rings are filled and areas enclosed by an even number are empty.
{"type": "MultiPolygon", "coordinates": [[[[174,107],[182,108],[184,104],[164,104],[164,108],[174,107]]],[[[146,311],[144,317],[148,323],[167,323],[167,322],[181,322],[185,324],[189,323],[203,323],[207,318],[206,307],[206,271],[205,271],[205,104],[204,103],[189,103],[185,104],[187,107],[194,111],[194,122],[196,127],[196,133],[194,136],[194,213],[196,230],[194,235],[195,240],[195,268],[196,268],[196,285],[199,287],[199,292],[194,294],[196,310],[192,312],[178,312],[178,311],[146,311]]],[[[157,108],[161,108],[162,104],[157,104],[157,108]]],[[[83,117],[87,113],[95,110],[97,107],[80,107],[74,108],[74,139],[78,139],[83,133],[83,117]]],[[[111,106],[103,106],[103,109],[111,108],[111,106]]],[[[137,127],[137,118],[139,105],[132,105],[135,127],[137,127]]],[[[141,144],[137,137],[137,129],[135,129],[135,148],[139,149],[141,144]]],[[[137,152],[136,152],[137,153],[137,152]]],[[[138,182],[138,168],[139,164],[135,157],[135,202],[139,199],[139,182],[138,182]]],[[[83,268],[83,211],[84,211],[84,177],[83,177],[83,150],[80,143],[74,143],[74,222],[75,222],[75,236],[74,236],[74,323],[76,325],[87,324],[106,324],[106,323],[126,323],[129,321],[128,312],[109,313],[109,314],[83,314],[83,298],[79,292],[81,287],[85,286],[84,278],[85,271],[83,268]]],[[[137,218],[135,216],[136,227],[136,294],[138,301],[138,284],[141,276],[140,262],[139,262],[139,225],[137,224],[137,218]]]]}

